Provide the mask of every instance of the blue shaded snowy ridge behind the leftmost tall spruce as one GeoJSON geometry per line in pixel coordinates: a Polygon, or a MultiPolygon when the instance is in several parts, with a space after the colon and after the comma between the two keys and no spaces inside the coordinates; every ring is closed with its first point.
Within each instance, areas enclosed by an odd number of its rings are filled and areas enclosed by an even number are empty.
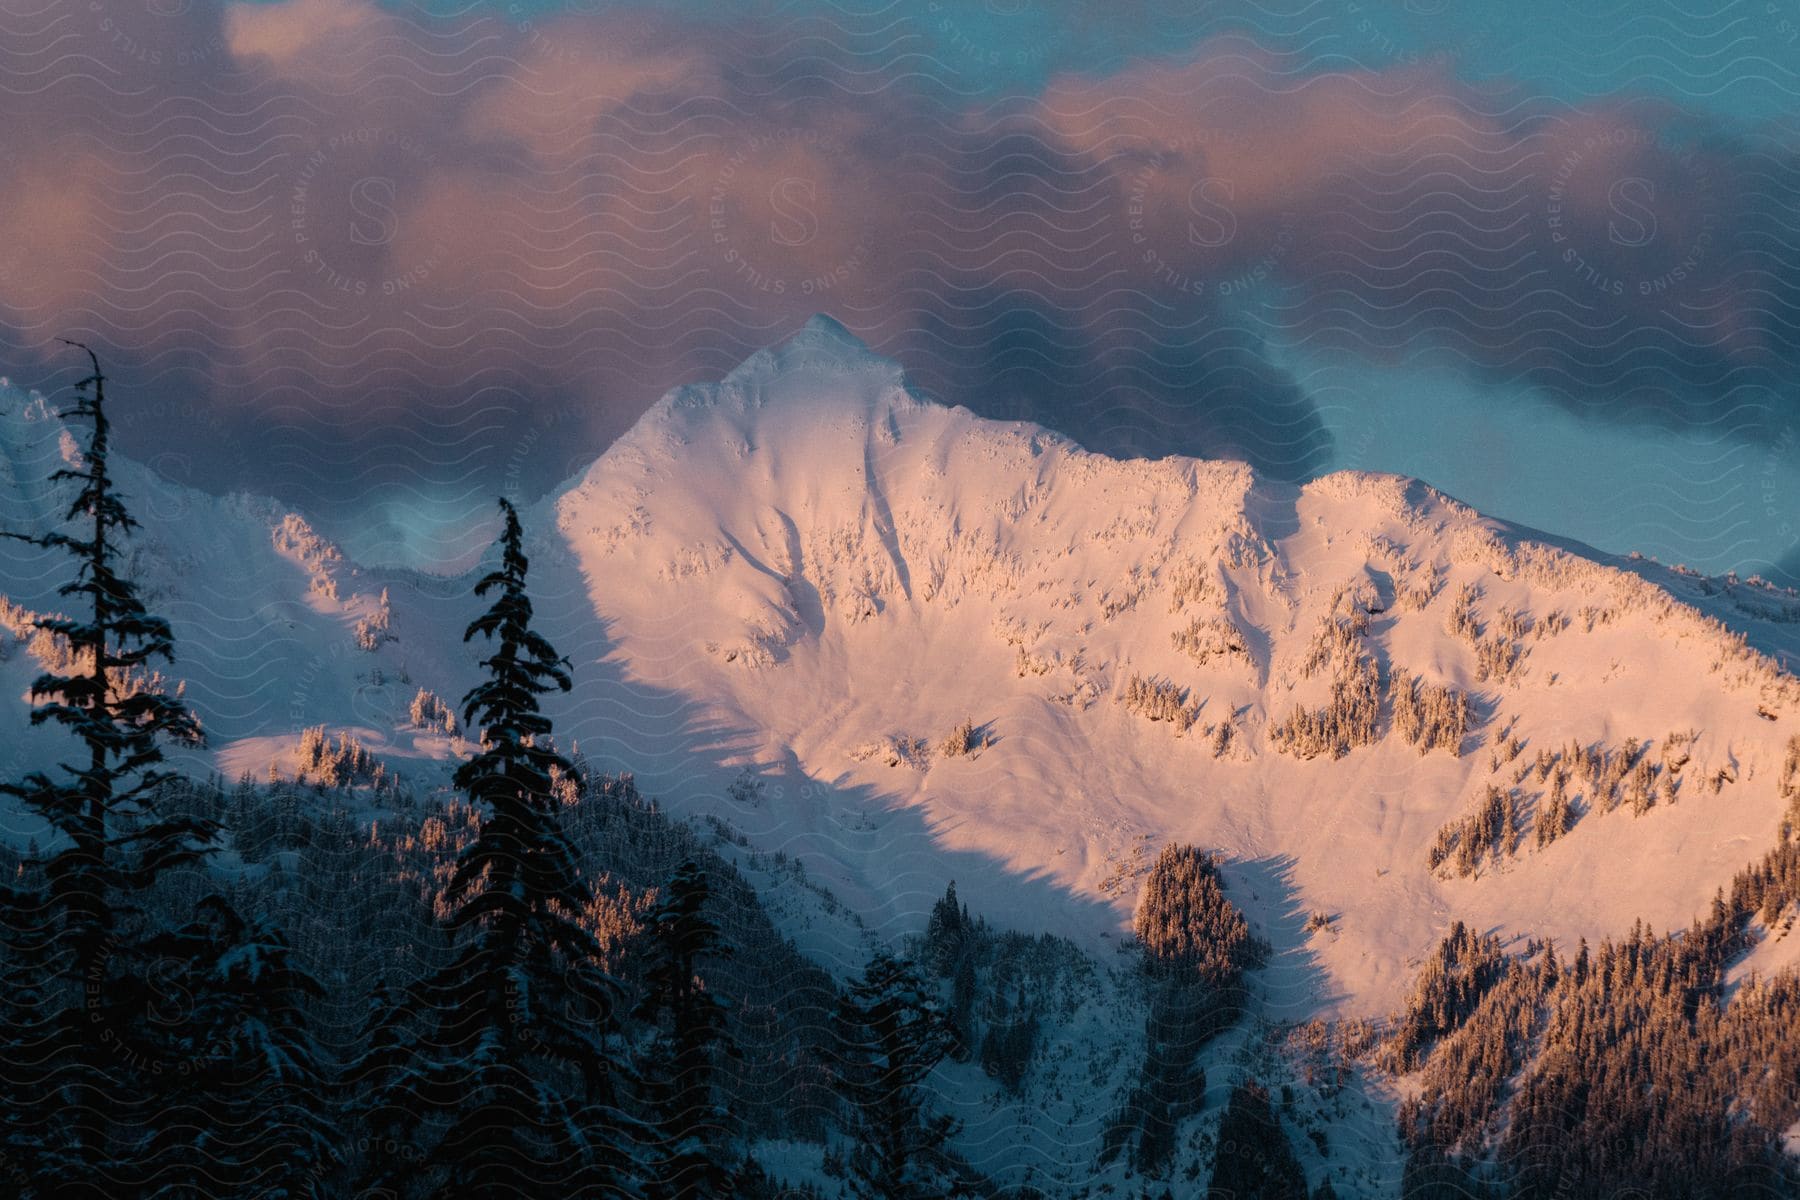
{"type": "MultiPolygon", "coordinates": [[[[119,389],[115,408],[130,403],[119,389]]],[[[43,398],[0,387],[0,529],[56,527],[67,500],[47,480],[74,444],[43,398]]],[[[176,662],[164,671],[185,684],[218,766],[261,775],[272,757],[299,743],[302,729],[319,723],[360,729],[383,748],[414,752],[394,729],[412,693],[376,682],[378,673],[401,673],[403,658],[382,662],[356,648],[358,626],[380,622],[387,574],[349,563],[274,500],[205,495],[117,453],[113,473],[140,524],[126,543],[130,569],[175,630],[176,662]]],[[[56,590],[65,581],[59,556],[0,543],[0,594],[20,610],[9,622],[16,628],[0,633],[0,680],[14,698],[0,711],[0,765],[7,768],[47,765],[59,748],[54,730],[27,729],[23,700],[45,666],[29,653],[29,621],[61,608],[56,590]]],[[[409,615],[389,622],[410,624],[409,615]]],[[[7,833],[27,837],[29,829],[9,820],[7,833]]]]}

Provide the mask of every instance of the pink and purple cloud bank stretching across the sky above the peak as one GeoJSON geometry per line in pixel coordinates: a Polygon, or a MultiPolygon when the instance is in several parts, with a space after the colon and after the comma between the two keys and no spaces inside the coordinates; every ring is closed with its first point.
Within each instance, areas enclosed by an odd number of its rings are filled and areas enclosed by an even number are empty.
{"type": "Polygon", "coordinates": [[[542,488],[821,309],[941,399],[1289,477],[1328,439],[1274,333],[1625,421],[1789,403],[1791,162],[1667,106],[1247,40],[947,97],[947,47],[1049,43],[839,11],[117,9],[0,18],[0,351],[49,381],[94,336],[205,408],[198,482],[542,488]]]}

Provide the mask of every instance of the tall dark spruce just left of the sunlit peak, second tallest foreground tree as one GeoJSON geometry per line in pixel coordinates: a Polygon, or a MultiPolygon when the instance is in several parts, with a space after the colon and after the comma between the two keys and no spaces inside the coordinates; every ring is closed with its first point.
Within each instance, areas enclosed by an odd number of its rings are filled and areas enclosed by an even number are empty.
{"type": "Polygon", "coordinates": [[[524,533],[511,504],[500,513],[500,563],[475,585],[493,601],[463,635],[491,644],[488,676],[463,698],[481,752],[455,772],[482,820],[443,896],[452,957],[410,997],[425,1020],[401,1090],[425,1169],[409,1189],[628,1196],[635,1132],[610,1045],[619,986],[580,923],[590,896],[553,793],[572,768],[538,709],[569,691],[569,662],[531,628],[524,533]]]}

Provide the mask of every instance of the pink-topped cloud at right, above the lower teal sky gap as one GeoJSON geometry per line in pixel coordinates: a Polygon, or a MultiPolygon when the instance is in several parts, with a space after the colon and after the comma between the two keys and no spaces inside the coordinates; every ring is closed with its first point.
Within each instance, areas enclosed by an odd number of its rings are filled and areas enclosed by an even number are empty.
{"type": "Polygon", "coordinates": [[[1159,273],[1267,261],[1298,342],[1737,435],[1766,430],[1744,389],[1800,358],[1800,297],[1773,270],[1795,246],[1791,151],[1661,101],[1570,110],[1220,45],[1057,81],[1042,119],[1127,196],[1159,273]]]}

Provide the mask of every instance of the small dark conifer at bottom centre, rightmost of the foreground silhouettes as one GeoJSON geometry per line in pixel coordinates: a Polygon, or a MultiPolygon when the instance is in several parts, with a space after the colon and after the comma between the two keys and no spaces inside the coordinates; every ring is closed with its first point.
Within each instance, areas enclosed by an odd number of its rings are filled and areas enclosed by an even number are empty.
{"type": "Polygon", "coordinates": [[[943,1061],[950,1033],[918,968],[877,954],[839,1006],[839,1085],[850,1099],[857,1150],[851,1180],[864,1200],[961,1195],[943,1160],[950,1117],[925,1114],[920,1083],[943,1061]]]}

